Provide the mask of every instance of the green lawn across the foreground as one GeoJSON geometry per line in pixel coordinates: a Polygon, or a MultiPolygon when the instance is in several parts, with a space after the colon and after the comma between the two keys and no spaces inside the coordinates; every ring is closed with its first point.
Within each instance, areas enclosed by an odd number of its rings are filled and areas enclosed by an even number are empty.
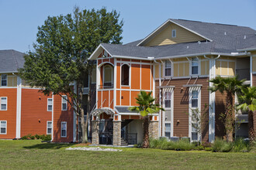
{"type": "Polygon", "coordinates": [[[164,151],[66,151],[72,144],[0,140],[0,169],[256,169],[255,153],[164,151]]]}

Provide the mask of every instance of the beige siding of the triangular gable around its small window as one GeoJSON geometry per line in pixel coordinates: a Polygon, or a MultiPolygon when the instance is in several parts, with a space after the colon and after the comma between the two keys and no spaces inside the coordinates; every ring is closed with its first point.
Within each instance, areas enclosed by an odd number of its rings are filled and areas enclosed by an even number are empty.
{"type": "Polygon", "coordinates": [[[182,27],[171,23],[169,26],[167,26],[165,29],[159,32],[157,36],[154,36],[154,38],[150,39],[150,41],[147,42],[144,46],[162,46],[162,45],[168,45],[168,44],[175,44],[175,43],[182,43],[182,42],[196,42],[196,41],[203,41],[203,40],[206,40],[206,39],[203,39],[202,37],[197,36],[192,32],[189,32],[189,30],[183,29],[182,27]],[[171,37],[172,29],[176,29],[175,38],[171,37]]]}

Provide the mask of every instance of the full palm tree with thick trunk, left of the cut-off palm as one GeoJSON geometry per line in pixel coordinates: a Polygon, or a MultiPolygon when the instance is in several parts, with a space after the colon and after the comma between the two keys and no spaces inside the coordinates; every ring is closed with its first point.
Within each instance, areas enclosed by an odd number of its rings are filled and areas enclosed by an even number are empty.
{"type": "Polygon", "coordinates": [[[238,80],[238,76],[234,77],[221,77],[216,76],[216,78],[209,80],[213,83],[213,87],[209,87],[211,93],[220,91],[221,94],[226,93],[226,110],[224,114],[225,129],[227,134],[227,141],[233,141],[234,133],[234,95],[236,92],[240,91],[243,86],[244,80],[238,80]]]}

